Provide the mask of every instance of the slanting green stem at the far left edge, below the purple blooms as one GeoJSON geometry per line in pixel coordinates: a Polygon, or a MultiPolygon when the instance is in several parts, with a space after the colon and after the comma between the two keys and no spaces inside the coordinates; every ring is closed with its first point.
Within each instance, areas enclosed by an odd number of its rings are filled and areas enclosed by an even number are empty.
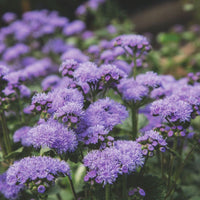
{"type": "Polygon", "coordinates": [[[5,146],[6,154],[9,154],[11,152],[11,141],[9,138],[9,131],[6,123],[6,118],[4,111],[0,113],[0,121],[2,126],[2,132],[3,132],[3,144],[5,146]]]}

